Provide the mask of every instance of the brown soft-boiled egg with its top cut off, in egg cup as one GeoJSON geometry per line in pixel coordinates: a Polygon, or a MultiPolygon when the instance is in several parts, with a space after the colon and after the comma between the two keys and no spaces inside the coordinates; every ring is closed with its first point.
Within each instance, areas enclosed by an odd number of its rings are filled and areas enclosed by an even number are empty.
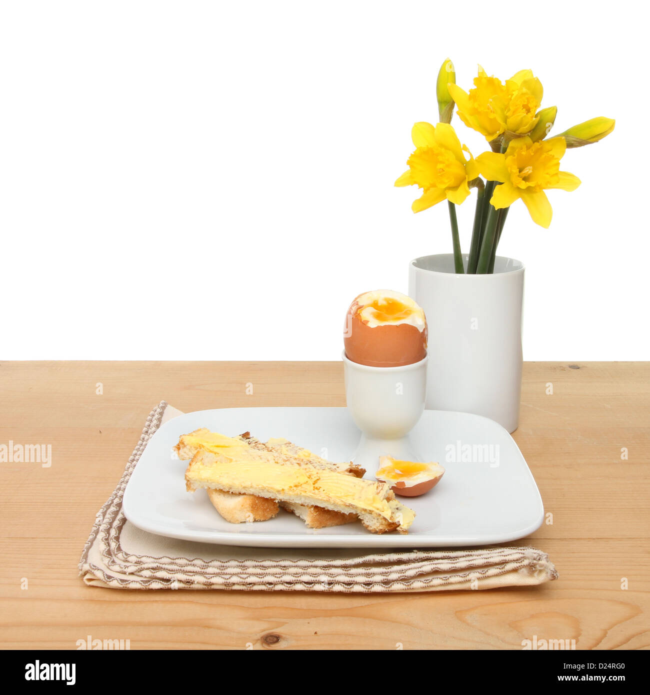
{"type": "Polygon", "coordinates": [[[348,309],[346,357],[368,367],[401,367],[427,354],[424,311],[407,295],[375,290],[359,295],[348,309]]]}

